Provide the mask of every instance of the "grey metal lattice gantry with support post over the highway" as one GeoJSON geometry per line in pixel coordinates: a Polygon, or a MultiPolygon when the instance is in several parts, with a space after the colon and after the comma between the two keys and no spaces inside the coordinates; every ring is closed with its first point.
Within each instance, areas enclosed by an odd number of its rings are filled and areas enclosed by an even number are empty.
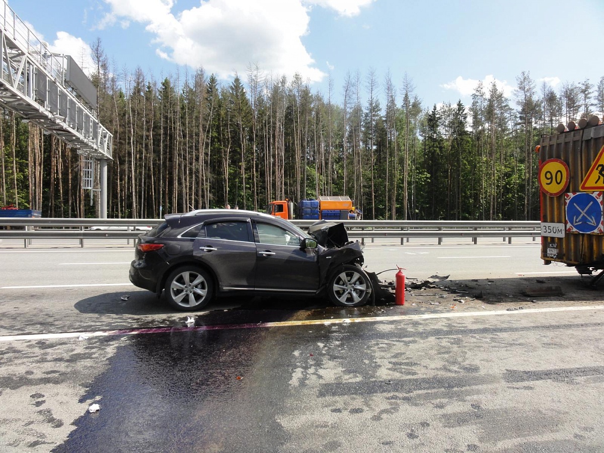
{"type": "Polygon", "coordinates": [[[100,216],[106,218],[113,136],[98,121],[96,88],[70,56],[51,53],[6,0],[0,0],[0,40],[0,105],[59,137],[89,162],[98,160],[100,216]]]}

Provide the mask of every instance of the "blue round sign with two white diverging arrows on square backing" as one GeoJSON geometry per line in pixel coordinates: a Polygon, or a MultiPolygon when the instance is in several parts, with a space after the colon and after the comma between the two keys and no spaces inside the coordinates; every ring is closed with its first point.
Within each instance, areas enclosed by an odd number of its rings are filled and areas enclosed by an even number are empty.
{"type": "Polygon", "coordinates": [[[568,233],[604,233],[604,192],[565,193],[568,233]]]}

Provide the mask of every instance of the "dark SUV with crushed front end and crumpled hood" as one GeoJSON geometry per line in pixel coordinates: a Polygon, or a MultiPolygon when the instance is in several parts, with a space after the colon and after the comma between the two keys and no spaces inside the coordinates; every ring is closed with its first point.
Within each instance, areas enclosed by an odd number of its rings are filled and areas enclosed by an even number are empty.
{"type": "Polygon", "coordinates": [[[358,242],[342,223],[320,221],[304,233],[279,217],[243,210],[169,214],[138,236],[130,281],[178,310],[204,307],[217,294],[296,294],[361,306],[373,286],[358,242]]]}

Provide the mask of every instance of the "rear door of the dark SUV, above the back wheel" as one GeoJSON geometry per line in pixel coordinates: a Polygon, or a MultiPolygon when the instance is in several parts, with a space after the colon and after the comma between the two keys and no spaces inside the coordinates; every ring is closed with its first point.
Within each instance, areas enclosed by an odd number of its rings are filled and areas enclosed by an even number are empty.
{"type": "Polygon", "coordinates": [[[204,223],[193,243],[193,256],[216,273],[220,291],[254,289],[256,247],[249,219],[204,223]]]}

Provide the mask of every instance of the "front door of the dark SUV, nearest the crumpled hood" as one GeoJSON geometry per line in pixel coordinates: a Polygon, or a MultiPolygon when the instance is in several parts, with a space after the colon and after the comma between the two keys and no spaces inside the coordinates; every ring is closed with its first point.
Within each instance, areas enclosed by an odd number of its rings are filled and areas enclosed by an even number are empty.
{"type": "Polygon", "coordinates": [[[319,287],[316,249],[300,249],[301,239],[274,223],[254,220],[258,291],[314,293],[319,287]]]}

